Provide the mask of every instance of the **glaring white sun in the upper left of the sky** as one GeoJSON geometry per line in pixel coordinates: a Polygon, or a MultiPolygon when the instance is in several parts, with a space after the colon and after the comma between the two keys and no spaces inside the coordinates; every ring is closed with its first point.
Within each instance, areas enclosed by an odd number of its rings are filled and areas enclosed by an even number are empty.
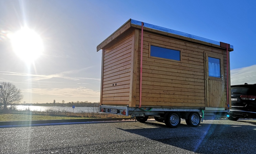
{"type": "Polygon", "coordinates": [[[27,27],[12,34],[10,38],[14,52],[26,63],[34,62],[43,53],[41,37],[27,27]]]}

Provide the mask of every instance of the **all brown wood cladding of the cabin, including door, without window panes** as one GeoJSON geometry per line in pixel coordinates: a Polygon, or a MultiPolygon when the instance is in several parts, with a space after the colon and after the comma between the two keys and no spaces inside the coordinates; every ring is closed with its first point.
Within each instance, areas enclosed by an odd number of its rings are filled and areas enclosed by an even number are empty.
{"type": "MultiPolygon", "coordinates": [[[[141,26],[130,22],[97,46],[103,52],[101,105],[139,106],[141,26]]],[[[227,108],[225,48],[147,27],[142,45],[142,107],[227,108]],[[179,51],[179,60],[151,56],[151,45],[179,51]],[[209,76],[208,57],[220,59],[221,77],[209,76]]]]}

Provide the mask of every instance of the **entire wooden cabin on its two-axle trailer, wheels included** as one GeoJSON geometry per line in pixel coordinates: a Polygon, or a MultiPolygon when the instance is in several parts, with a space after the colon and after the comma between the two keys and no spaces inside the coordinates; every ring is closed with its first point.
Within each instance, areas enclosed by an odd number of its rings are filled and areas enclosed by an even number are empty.
{"type": "Polygon", "coordinates": [[[230,44],[129,19],[101,49],[100,112],[175,128],[181,118],[196,127],[231,108],[230,44]]]}

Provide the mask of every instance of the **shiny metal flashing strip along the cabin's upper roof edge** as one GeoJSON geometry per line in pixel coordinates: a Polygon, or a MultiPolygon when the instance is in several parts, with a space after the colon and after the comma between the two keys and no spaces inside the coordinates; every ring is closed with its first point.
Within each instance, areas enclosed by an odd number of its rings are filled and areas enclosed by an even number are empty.
{"type": "MultiPolygon", "coordinates": [[[[141,26],[141,21],[131,19],[131,24],[141,26]]],[[[167,33],[175,34],[175,35],[179,35],[179,36],[184,36],[184,37],[187,37],[187,38],[192,38],[192,39],[195,39],[195,40],[199,40],[199,41],[203,41],[203,42],[207,42],[207,43],[212,43],[212,44],[220,46],[220,42],[218,42],[218,41],[213,41],[213,40],[203,38],[203,37],[200,37],[200,36],[195,36],[195,35],[192,35],[192,34],[187,34],[187,33],[180,32],[180,31],[175,31],[175,30],[172,30],[172,29],[167,29],[167,28],[164,28],[164,27],[155,26],[155,25],[152,25],[152,24],[147,24],[147,23],[144,23],[144,22],[143,22],[143,24],[144,24],[144,27],[147,27],[147,28],[150,28],[150,29],[155,29],[155,30],[158,30],[158,31],[163,31],[163,32],[167,32],[167,33]]],[[[230,48],[234,49],[232,45],[230,45],[230,48]]]]}

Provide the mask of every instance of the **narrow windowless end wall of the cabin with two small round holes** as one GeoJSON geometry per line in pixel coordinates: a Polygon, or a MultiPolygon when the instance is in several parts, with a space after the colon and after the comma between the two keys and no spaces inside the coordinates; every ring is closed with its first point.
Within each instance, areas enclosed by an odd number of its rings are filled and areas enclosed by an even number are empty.
{"type": "Polygon", "coordinates": [[[103,49],[101,104],[128,105],[133,33],[130,31],[103,49]]]}

